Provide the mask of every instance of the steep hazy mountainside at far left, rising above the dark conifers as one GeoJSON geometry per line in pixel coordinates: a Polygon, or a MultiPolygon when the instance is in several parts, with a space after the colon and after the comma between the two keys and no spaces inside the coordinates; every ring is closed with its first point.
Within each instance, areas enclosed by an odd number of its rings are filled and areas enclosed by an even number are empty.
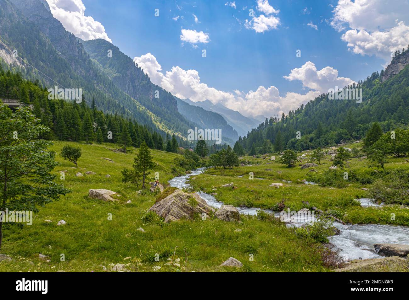
{"type": "Polygon", "coordinates": [[[39,79],[47,87],[81,88],[83,100],[90,104],[94,98],[105,112],[133,117],[163,135],[185,135],[121,91],[91,60],[79,40],[52,16],[47,2],[0,0],[0,41],[0,57],[8,62],[7,68],[20,71],[25,78],[39,79]],[[10,63],[13,50],[18,57],[10,63]]]}

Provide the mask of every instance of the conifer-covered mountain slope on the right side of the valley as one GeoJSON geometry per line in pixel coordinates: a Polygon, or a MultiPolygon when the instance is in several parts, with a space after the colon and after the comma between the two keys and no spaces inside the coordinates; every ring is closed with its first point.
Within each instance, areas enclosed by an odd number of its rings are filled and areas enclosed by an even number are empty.
{"type": "MultiPolygon", "coordinates": [[[[393,58],[389,69],[402,62],[408,50],[393,58]]],[[[351,88],[362,88],[361,103],[356,100],[330,100],[322,94],[305,106],[269,120],[254,128],[247,136],[240,137],[238,144],[249,151],[270,147],[283,149],[310,149],[338,144],[349,139],[362,139],[372,122],[380,122],[383,131],[402,127],[409,122],[409,66],[395,76],[381,81],[384,71],[374,72],[366,80],[351,88]],[[297,139],[297,131],[300,138],[297,139]],[[267,141],[268,140],[268,141],[267,141]]]]}

